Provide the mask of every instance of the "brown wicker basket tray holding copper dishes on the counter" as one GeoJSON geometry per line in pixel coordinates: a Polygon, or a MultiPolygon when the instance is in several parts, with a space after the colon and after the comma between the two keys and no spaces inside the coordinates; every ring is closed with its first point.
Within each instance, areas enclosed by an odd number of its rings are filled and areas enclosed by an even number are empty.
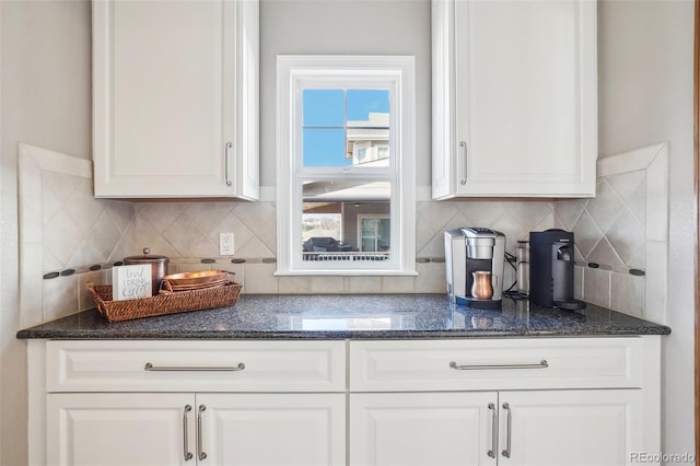
{"type": "Polygon", "coordinates": [[[112,286],[95,286],[91,281],[88,282],[88,291],[97,311],[109,322],[232,306],[238,300],[241,288],[241,283],[229,281],[215,288],[168,292],[138,300],[113,301],[112,286]]]}

